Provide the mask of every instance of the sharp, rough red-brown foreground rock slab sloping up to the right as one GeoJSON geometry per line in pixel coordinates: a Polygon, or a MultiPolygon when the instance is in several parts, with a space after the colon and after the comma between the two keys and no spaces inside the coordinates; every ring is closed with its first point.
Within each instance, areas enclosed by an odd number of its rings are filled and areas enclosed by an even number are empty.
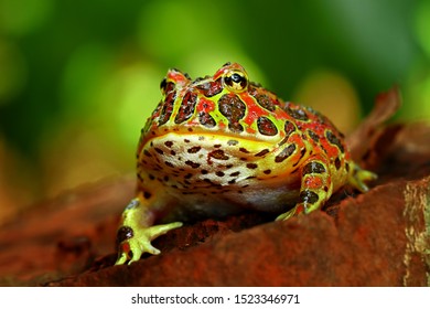
{"type": "MultiPolygon", "coordinates": [[[[186,237],[178,234],[193,233],[189,227],[171,235],[180,246],[161,256],[50,285],[426,286],[429,184],[430,177],[389,183],[343,201],[336,220],[316,212],[239,233],[224,231],[186,248],[186,237]]],[[[225,230],[206,224],[195,228],[225,230]]]]}

